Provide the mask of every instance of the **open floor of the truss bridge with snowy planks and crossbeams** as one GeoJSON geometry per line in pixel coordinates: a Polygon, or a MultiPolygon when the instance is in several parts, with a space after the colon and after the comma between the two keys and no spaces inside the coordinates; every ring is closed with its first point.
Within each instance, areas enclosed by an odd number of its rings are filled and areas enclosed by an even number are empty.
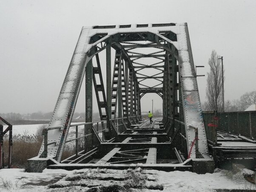
{"type": "MultiPolygon", "coordinates": [[[[184,160],[178,161],[179,154],[175,153],[170,141],[162,119],[153,119],[152,124],[149,120],[143,121],[132,125],[124,133],[119,133],[110,142],[102,142],[93,153],[85,155],[87,158],[80,161],[84,164],[79,166],[122,169],[139,164],[140,167],[166,171],[191,170],[190,164],[184,160]]],[[[77,166],[71,161],[63,161],[48,168],[77,169],[77,166]]]]}

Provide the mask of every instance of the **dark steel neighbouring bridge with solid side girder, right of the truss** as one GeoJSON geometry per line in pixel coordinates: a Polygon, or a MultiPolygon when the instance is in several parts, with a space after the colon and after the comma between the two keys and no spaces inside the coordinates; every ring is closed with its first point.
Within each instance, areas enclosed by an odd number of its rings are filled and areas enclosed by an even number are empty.
{"type": "Polygon", "coordinates": [[[204,111],[205,130],[210,154],[216,166],[244,164],[255,170],[256,111],[204,111]]]}

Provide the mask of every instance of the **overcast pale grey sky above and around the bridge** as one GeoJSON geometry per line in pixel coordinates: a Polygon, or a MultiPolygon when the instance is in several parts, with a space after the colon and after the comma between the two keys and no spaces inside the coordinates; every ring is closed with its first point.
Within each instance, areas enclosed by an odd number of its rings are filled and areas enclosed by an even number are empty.
{"type": "MultiPolygon", "coordinates": [[[[54,109],[82,26],[187,22],[195,65],[224,57],[225,99],[256,90],[255,0],[0,0],[0,113],[54,109]]],[[[201,102],[206,77],[198,78],[201,102]]],[[[156,94],[145,95],[142,110],[156,94]]],[[[77,112],[84,111],[78,103],[77,112]]]]}

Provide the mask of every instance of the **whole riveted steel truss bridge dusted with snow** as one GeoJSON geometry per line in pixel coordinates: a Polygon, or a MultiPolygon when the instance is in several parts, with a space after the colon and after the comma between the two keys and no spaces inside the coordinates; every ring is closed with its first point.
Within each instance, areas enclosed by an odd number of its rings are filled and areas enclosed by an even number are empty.
{"type": "Polygon", "coordinates": [[[187,23],[83,27],[43,134],[28,171],[139,165],[212,172],[187,23]],[[86,123],[71,124],[84,77],[86,123]],[[98,122],[92,122],[93,90],[98,122]],[[153,124],[141,119],[147,93],[163,102],[163,117],[153,124]],[[68,142],[74,155],[63,159],[68,142]]]}

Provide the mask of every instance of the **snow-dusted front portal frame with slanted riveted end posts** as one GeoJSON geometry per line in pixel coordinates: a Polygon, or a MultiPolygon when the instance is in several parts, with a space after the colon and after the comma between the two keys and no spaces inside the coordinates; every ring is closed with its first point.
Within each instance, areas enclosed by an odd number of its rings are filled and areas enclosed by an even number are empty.
{"type": "MultiPolygon", "coordinates": [[[[48,131],[48,143],[54,142],[54,144],[48,145],[47,157],[60,162],[82,79],[85,75],[85,67],[95,54],[106,48],[106,46],[102,46],[96,53],[95,47],[101,42],[109,41],[112,47],[122,50],[123,56],[127,58],[128,65],[131,67],[131,60],[129,60],[131,56],[126,53],[124,45],[121,45],[121,43],[123,44],[125,40],[140,41],[142,39],[156,43],[156,46],[162,47],[178,60],[182,93],[181,102],[185,112],[187,149],[190,150],[193,147],[192,141],[195,137],[193,130],[189,129],[189,125],[198,127],[199,152],[204,158],[208,158],[207,139],[187,23],[134,24],[125,28],[121,28],[121,25],[83,27],[48,125],[48,128],[58,126],[61,128],[48,131]]],[[[132,45],[145,46],[139,43],[133,43],[132,45]]],[[[155,46],[151,43],[148,45],[155,46]]],[[[136,74],[133,73],[133,75],[136,79],[136,74]]],[[[139,84],[135,82],[134,85],[139,91],[139,84]]],[[[43,151],[44,144],[42,144],[38,154],[39,159],[43,151]]],[[[196,158],[194,148],[191,152],[191,158],[196,158]]]]}

